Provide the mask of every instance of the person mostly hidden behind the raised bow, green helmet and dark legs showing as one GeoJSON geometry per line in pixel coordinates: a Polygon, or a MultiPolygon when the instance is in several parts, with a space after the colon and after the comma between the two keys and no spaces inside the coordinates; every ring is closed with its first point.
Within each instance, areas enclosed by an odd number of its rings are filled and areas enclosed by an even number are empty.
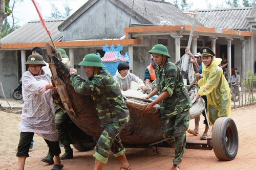
{"type": "MultiPolygon", "coordinates": [[[[66,51],[62,48],[57,48],[57,52],[61,56],[62,60],[61,62],[64,63],[67,67],[70,66],[69,57],[66,54],[66,51]]],[[[55,125],[58,132],[58,139],[59,143],[63,145],[65,153],[60,157],[60,160],[64,159],[71,159],[73,158],[73,149],[70,147],[70,144],[72,143],[69,133],[67,131],[67,124],[68,124],[68,113],[66,110],[62,110],[59,108],[55,103],[53,103],[54,110],[55,110],[55,125]]],[[[53,164],[54,155],[51,154],[50,150],[46,157],[42,158],[41,161],[53,164]]]]}

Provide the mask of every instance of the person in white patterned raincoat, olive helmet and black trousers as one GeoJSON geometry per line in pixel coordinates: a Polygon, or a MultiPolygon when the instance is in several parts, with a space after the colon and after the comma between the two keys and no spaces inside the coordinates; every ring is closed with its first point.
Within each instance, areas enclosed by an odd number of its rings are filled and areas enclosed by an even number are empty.
{"type": "Polygon", "coordinates": [[[58,135],[55,128],[55,112],[52,100],[51,75],[45,71],[44,59],[32,54],[26,62],[29,70],[22,76],[24,106],[22,121],[19,123],[18,169],[24,169],[34,133],[45,139],[50,152],[55,155],[52,169],[62,169],[58,135]]]}

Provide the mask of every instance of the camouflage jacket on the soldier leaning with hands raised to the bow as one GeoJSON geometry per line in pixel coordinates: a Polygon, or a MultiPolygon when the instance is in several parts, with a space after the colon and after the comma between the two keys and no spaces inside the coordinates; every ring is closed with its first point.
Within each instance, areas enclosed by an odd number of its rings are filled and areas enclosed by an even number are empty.
{"type": "Polygon", "coordinates": [[[84,80],[73,74],[70,84],[76,92],[92,96],[101,126],[128,122],[129,110],[125,105],[118,83],[109,71],[100,70],[89,80],[84,80]]]}

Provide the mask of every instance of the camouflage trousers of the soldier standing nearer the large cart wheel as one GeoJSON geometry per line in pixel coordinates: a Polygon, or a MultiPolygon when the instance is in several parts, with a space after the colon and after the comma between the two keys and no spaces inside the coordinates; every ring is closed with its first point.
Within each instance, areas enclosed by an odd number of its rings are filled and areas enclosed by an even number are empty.
{"type": "Polygon", "coordinates": [[[162,119],[162,133],[170,147],[175,148],[174,164],[180,164],[186,147],[186,131],[189,125],[189,112],[162,119]]]}

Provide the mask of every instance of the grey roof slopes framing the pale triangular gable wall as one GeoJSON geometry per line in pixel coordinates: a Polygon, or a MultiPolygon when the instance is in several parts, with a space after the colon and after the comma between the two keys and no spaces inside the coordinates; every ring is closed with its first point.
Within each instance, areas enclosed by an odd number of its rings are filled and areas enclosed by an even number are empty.
{"type": "MultiPolygon", "coordinates": [[[[65,22],[59,26],[59,30],[66,29],[80,15],[90,9],[93,4],[100,0],[89,0],[74,12],[65,22]]],[[[120,9],[128,13],[132,12],[133,0],[109,0],[120,9]]],[[[136,0],[134,1],[133,17],[138,19],[141,24],[159,25],[161,21],[168,21],[169,25],[192,25],[193,18],[187,14],[183,14],[181,10],[168,2],[160,2],[154,0],[136,0]]],[[[133,23],[132,23],[133,24],[133,23]]],[[[203,26],[196,22],[196,26],[203,26]]]]}

